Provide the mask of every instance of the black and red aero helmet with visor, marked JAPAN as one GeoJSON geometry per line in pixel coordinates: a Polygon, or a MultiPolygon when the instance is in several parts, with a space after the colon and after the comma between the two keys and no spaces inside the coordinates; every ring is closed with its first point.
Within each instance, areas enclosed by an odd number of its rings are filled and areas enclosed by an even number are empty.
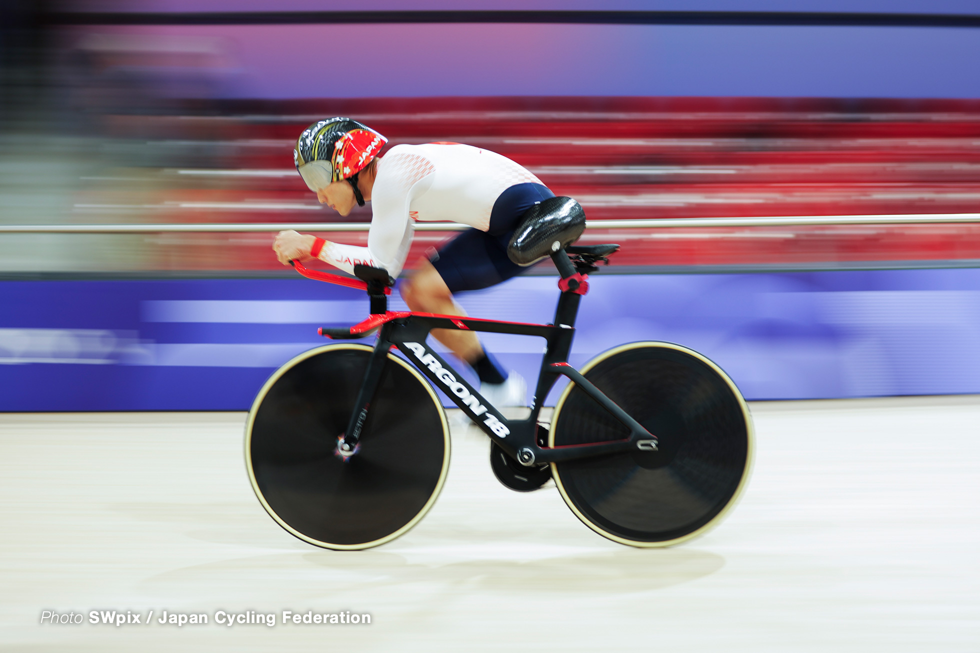
{"type": "Polygon", "coordinates": [[[331,181],[347,179],[358,206],[364,206],[358,174],[387,142],[387,138],[363,123],[350,118],[328,118],[300,134],[293,149],[293,162],[310,190],[317,192],[331,181]]]}

